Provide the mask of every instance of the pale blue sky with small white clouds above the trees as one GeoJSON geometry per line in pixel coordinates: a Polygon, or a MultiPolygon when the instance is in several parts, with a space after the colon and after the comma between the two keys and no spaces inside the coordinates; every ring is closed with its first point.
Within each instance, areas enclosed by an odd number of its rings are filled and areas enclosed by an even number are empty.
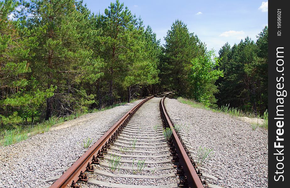
{"type": "MultiPolygon", "coordinates": [[[[84,0],[95,13],[104,13],[112,1],[84,0]]],[[[231,46],[249,36],[256,41],[265,25],[268,25],[268,1],[184,1],[184,0],[120,0],[137,17],[141,16],[145,26],[150,25],[165,44],[164,36],[176,19],[182,20],[208,49],[218,50],[228,42],[231,46]]]]}

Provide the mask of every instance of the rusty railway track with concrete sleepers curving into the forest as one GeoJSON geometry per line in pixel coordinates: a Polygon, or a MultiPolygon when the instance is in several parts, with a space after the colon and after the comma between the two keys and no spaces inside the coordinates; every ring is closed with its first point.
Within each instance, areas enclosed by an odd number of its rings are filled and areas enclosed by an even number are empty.
{"type": "Polygon", "coordinates": [[[174,130],[165,97],[148,97],[107,125],[109,130],[51,188],[208,187],[174,130]]]}

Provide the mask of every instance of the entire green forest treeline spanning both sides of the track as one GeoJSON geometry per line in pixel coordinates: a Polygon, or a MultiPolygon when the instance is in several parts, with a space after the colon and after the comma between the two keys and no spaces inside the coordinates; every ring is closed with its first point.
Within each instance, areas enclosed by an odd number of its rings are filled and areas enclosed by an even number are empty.
{"type": "Polygon", "coordinates": [[[267,109],[268,29],[219,57],[176,20],[160,45],[118,0],[0,2],[0,121],[40,122],[161,91],[207,106],[267,109]],[[14,19],[12,17],[14,16],[14,19]]]}

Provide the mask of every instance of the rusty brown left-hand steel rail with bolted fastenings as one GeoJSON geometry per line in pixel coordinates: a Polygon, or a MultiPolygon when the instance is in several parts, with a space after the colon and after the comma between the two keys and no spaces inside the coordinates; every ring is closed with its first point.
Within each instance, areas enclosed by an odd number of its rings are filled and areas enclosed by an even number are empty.
{"type": "Polygon", "coordinates": [[[79,180],[80,172],[85,172],[87,164],[92,162],[93,155],[97,156],[98,152],[101,151],[102,147],[108,142],[109,138],[111,138],[118,130],[120,125],[122,125],[128,118],[132,117],[134,112],[144,104],[149,99],[155,97],[153,95],[151,97],[147,97],[143,101],[139,102],[136,106],[134,106],[129,112],[127,112],[117,123],[115,123],[94,145],[90,147],[69,169],[58,179],[56,180],[50,188],[68,188],[75,187],[72,186],[72,182],[75,183],[79,180]]]}

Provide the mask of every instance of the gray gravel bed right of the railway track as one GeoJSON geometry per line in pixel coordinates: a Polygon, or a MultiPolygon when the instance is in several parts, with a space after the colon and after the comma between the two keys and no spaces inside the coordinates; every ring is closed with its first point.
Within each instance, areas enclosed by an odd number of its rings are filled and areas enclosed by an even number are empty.
{"type": "Polygon", "coordinates": [[[212,148],[212,159],[204,165],[222,187],[268,187],[268,133],[222,113],[190,107],[176,99],[166,99],[172,121],[181,125],[189,149],[212,148]]]}

